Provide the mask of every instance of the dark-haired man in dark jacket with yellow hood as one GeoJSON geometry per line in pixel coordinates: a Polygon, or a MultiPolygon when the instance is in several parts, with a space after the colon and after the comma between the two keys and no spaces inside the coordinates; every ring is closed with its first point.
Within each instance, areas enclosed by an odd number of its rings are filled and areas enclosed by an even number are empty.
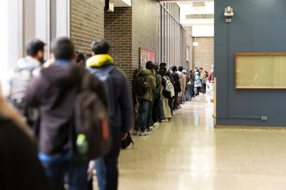
{"type": "Polygon", "coordinates": [[[105,40],[96,40],[91,44],[93,57],[89,58],[86,66],[91,73],[100,78],[98,71],[106,72],[107,79],[102,80],[109,94],[108,104],[111,115],[112,146],[100,161],[96,161],[95,169],[98,188],[117,190],[118,185],[118,157],[121,141],[127,137],[132,122],[132,98],[127,75],[116,67],[111,58],[110,44],[105,40]],[[111,82],[111,84],[108,84],[111,82]],[[112,108],[114,107],[114,108],[112,108]]]}

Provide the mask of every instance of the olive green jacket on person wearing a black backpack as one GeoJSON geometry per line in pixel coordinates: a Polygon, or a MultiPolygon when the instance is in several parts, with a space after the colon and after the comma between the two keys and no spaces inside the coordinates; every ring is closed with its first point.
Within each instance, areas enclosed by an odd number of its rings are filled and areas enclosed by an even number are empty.
{"type": "Polygon", "coordinates": [[[147,92],[143,96],[136,96],[136,97],[149,100],[152,102],[153,99],[152,89],[156,88],[156,78],[155,76],[153,76],[153,73],[149,69],[142,69],[139,73],[142,73],[143,75],[146,76],[146,82],[148,84],[148,88],[147,92]]]}

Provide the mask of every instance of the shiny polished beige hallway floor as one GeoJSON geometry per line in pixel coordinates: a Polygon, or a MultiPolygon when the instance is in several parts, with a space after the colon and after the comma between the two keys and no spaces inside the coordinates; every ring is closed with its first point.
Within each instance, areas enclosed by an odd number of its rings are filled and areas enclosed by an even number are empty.
{"type": "Polygon", "coordinates": [[[205,96],[121,151],[119,190],[285,190],[286,131],[213,129],[205,96]]]}

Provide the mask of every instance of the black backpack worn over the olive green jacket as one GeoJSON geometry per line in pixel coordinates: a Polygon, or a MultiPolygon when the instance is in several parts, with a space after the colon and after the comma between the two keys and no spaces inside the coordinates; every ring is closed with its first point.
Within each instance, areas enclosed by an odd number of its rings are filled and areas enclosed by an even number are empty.
{"type": "Polygon", "coordinates": [[[142,73],[137,74],[132,80],[132,92],[137,96],[143,96],[147,92],[146,76],[142,73]]]}

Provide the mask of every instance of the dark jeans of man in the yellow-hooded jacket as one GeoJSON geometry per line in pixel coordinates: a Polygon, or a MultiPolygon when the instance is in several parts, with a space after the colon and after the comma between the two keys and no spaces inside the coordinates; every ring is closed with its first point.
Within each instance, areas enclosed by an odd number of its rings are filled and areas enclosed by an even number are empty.
{"type": "MultiPolygon", "coordinates": [[[[150,102],[150,101],[149,101],[150,102]]],[[[118,157],[121,147],[122,132],[120,128],[112,128],[111,151],[96,162],[96,176],[99,190],[117,190],[118,157]],[[104,187],[104,185],[106,186],[104,187]]]]}

